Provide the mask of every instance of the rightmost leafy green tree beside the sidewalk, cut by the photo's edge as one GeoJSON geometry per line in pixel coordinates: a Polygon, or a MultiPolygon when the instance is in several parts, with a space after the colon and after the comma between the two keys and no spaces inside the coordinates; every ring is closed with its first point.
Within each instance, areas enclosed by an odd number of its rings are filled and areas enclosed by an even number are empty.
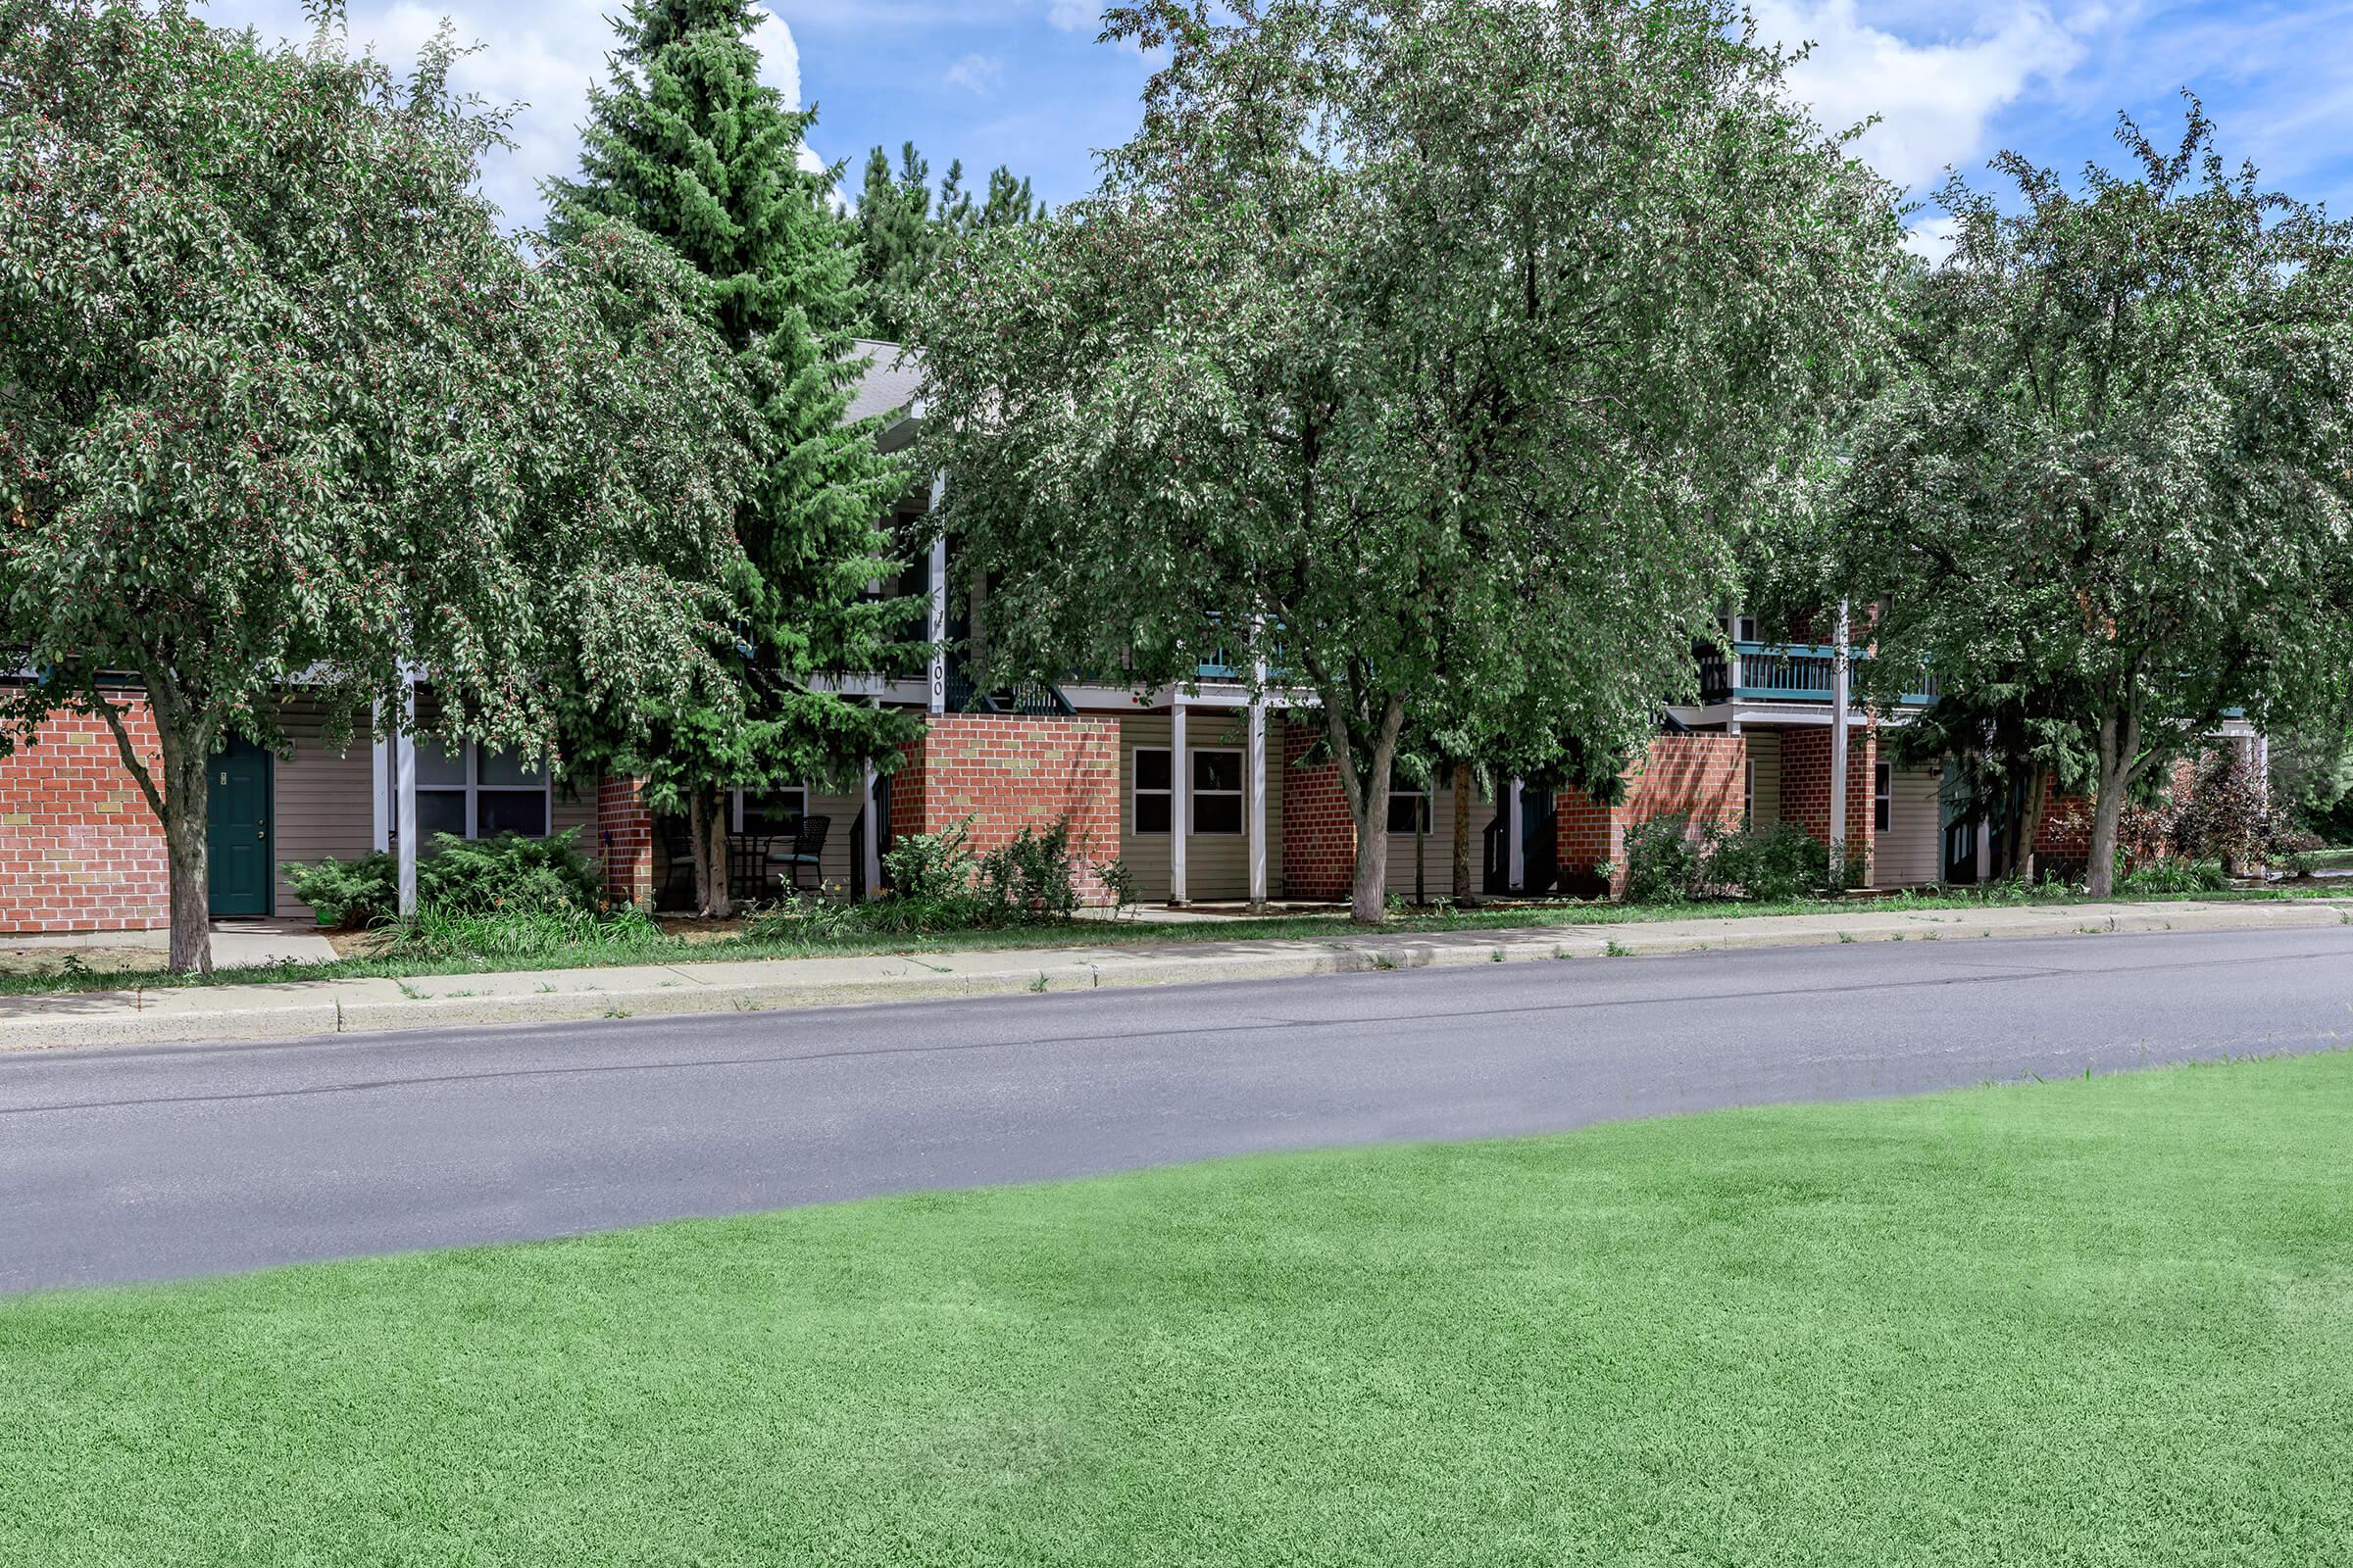
{"type": "Polygon", "coordinates": [[[1955,247],[1908,296],[1835,534],[1847,590],[1885,599],[1868,689],[2024,696],[2042,752],[2089,759],[2101,896],[2137,785],[2233,710],[2337,719],[2353,663],[2348,230],[2226,169],[2195,101],[2172,153],[2118,139],[2132,169],[2080,193],[2017,153],[2009,212],[1944,188],[1955,247]]]}

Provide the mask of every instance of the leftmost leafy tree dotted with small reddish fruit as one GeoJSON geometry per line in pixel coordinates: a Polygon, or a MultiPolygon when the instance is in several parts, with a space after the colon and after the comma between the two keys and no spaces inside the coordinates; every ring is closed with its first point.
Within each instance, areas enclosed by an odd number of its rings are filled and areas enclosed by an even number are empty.
{"type": "Polygon", "coordinates": [[[0,0],[0,741],[106,719],[209,969],[207,762],[348,741],[405,668],[447,738],[555,750],[706,663],[751,409],[699,280],[612,228],[529,263],[447,94],[174,0],[0,0]],[[122,677],[160,769],[132,745],[122,677]]]}

